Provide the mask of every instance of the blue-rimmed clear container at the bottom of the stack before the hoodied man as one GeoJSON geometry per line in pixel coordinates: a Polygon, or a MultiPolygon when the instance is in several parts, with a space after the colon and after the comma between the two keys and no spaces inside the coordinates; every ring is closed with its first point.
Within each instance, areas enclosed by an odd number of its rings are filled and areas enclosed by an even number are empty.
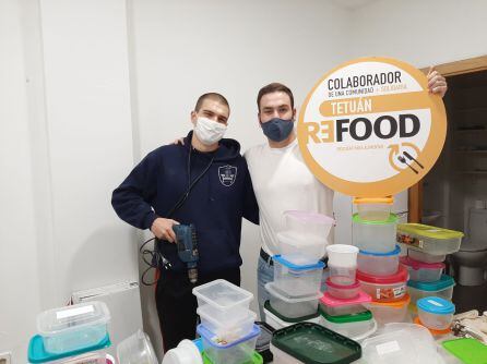
{"type": "Polygon", "coordinates": [[[218,340],[203,325],[198,325],[198,333],[203,341],[203,350],[214,364],[241,364],[252,362],[257,339],[260,335],[259,326],[254,325],[252,331],[231,343],[218,340]]]}

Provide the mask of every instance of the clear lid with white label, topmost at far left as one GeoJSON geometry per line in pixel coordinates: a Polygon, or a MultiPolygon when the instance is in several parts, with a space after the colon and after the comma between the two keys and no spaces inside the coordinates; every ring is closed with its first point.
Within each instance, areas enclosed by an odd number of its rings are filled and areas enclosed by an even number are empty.
{"type": "Polygon", "coordinates": [[[110,313],[104,302],[85,302],[38,314],[37,331],[43,336],[52,336],[85,326],[106,325],[109,320],[110,313]]]}

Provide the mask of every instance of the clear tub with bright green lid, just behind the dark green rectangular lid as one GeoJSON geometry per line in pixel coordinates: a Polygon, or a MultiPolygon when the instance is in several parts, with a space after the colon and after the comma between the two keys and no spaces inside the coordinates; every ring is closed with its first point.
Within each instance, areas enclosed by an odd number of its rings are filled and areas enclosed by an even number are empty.
{"type": "Polygon", "coordinates": [[[324,327],[355,341],[364,340],[377,330],[377,323],[370,311],[355,315],[330,316],[320,308],[320,313],[324,327]]]}

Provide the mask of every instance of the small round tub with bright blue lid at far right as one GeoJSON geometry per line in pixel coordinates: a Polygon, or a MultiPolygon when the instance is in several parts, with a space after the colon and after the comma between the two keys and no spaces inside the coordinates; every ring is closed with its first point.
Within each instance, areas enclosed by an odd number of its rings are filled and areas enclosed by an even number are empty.
{"type": "Polygon", "coordinates": [[[416,302],[419,320],[427,328],[444,330],[451,326],[455,305],[441,298],[429,296],[416,302]]]}

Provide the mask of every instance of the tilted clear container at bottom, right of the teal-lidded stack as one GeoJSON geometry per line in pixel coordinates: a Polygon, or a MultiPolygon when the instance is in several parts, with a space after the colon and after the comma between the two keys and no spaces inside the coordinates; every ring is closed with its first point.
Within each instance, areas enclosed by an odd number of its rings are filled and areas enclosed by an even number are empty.
{"type": "Polygon", "coordinates": [[[149,336],[138,330],[117,345],[118,364],[158,364],[149,336]]]}

